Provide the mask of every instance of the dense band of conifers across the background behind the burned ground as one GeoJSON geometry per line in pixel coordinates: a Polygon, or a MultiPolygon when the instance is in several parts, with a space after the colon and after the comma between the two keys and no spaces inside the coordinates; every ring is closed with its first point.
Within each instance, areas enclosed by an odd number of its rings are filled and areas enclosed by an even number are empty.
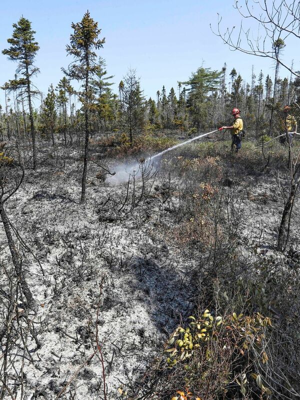
{"type": "MultiPolygon", "coordinates": [[[[86,15],[90,23],[92,19],[86,15]]],[[[44,96],[34,86],[34,76],[39,72],[34,65],[39,49],[34,34],[31,22],[21,17],[13,24],[12,37],[7,39],[10,47],[2,51],[18,63],[15,76],[1,86],[5,95],[5,103],[0,106],[3,140],[30,135],[34,142],[36,133],[53,146],[58,140],[71,144],[79,140],[84,130],[86,110],[90,134],[125,133],[130,143],[134,136],[156,129],[192,135],[230,121],[230,110],[235,106],[241,110],[246,129],[257,138],[264,133],[275,134],[279,128],[277,111],[284,104],[300,100],[300,79],[280,78],[278,62],[273,76],[262,70],[256,76],[252,68],[250,83],[235,68],[228,71],[226,64],[220,71],[199,67],[186,81],[176,82],[169,92],[163,86],[155,98],[148,99],[143,96],[136,71],[129,69],[118,84],[118,92],[113,93],[114,76],[107,72],[105,60],[94,52],[103,46],[104,39],[98,40],[94,49],[87,49],[92,62],[92,66],[86,66],[87,80],[79,56],[77,69],[74,64],[68,70],[62,68],[64,76],[56,85],[50,84],[44,96]],[[81,83],[78,90],[74,89],[73,80],[81,83]],[[32,101],[36,98],[40,106],[34,109],[32,101]]],[[[279,52],[284,42],[279,39],[275,45],[279,52]]],[[[81,51],[78,41],[72,43],[72,35],[66,51],[75,57],[81,51]]]]}

